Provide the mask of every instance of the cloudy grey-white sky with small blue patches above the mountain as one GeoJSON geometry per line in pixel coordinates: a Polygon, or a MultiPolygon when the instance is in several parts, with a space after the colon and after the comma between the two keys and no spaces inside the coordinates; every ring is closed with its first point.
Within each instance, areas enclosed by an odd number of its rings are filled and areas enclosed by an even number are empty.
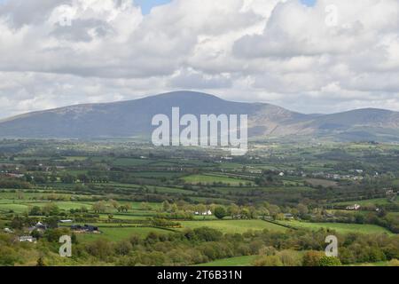
{"type": "Polygon", "coordinates": [[[397,0],[0,0],[0,118],[204,91],[399,111],[397,0]]]}

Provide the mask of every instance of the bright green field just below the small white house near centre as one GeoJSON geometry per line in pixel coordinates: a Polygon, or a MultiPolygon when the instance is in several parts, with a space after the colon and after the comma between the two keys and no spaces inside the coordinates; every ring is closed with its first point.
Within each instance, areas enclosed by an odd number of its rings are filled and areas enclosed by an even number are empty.
{"type": "Polygon", "coordinates": [[[249,230],[262,231],[264,229],[274,232],[286,232],[286,227],[271,224],[262,220],[222,220],[222,221],[182,221],[184,228],[209,227],[223,233],[246,233],[249,230]]]}

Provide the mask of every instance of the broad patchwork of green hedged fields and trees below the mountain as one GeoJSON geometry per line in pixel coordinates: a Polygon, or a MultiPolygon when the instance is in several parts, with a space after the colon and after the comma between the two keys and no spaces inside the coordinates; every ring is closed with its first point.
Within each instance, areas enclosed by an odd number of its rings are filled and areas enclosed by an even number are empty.
{"type": "MultiPolygon", "coordinates": [[[[297,265],[334,233],[355,238],[342,264],[386,264],[397,258],[399,168],[387,158],[396,151],[260,143],[231,158],[129,141],[0,141],[0,242],[28,265],[41,254],[70,265],[263,265],[271,255],[297,265]],[[68,261],[57,255],[61,234],[79,252],[68,261]],[[357,251],[363,241],[376,244],[370,256],[357,251]]],[[[10,259],[2,251],[0,264],[10,259]]]]}

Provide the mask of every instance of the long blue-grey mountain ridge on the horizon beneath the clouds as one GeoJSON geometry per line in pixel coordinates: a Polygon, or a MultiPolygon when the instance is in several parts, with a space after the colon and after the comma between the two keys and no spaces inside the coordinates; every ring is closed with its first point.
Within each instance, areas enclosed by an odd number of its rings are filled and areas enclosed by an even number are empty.
{"type": "Polygon", "coordinates": [[[0,138],[129,138],[149,136],[153,115],[180,107],[183,114],[248,114],[251,137],[304,137],[399,141],[399,113],[359,109],[340,114],[299,114],[279,106],[239,103],[176,91],[106,104],[66,106],[0,121],[0,138]]]}

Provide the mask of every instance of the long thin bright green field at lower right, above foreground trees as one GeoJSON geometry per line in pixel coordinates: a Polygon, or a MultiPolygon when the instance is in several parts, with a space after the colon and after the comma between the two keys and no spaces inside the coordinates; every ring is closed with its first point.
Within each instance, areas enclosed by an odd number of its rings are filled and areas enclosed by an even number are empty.
{"type": "Polygon", "coordinates": [[[326,228],[334,230],[338,233],[390,233],[387,229],[378,225],[359,225],[359,224],[343,224],[343,223],[308,223],[300,221],[280,221],[284,225],[291,225],[296,228],[306,228],[310,230],[318,230],[326,228]]]}

